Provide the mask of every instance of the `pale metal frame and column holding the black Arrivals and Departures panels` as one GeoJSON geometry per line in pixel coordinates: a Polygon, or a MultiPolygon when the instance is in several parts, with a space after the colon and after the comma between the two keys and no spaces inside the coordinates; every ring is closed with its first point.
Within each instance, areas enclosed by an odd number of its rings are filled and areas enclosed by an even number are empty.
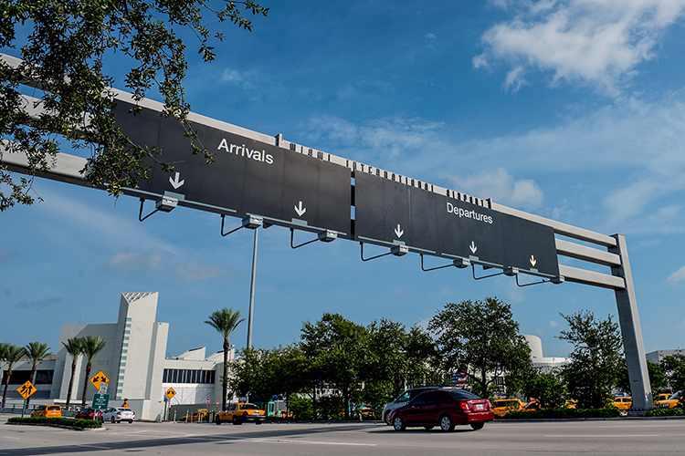
{"type": "MultiPolygon", "coordinates": [[[[0,58],[2,58],[5,61],[5,63],[10,65],[11,67],[18,67],[20,63],[20,60],[16,57],[9,57],[0,54],[0,58]]],[[[33,84],[36,85],[37,82],[34,82],[33,84]]],[[[111,88],[110,90],[112,93],[115,94],[115,97],[117,99],[123,102],[137,103],[143,109],[152,109],[153,111],[162,112],[163,105],[161,103],[155,102],[150,99],[142,99],[140,101],[136,101],[132,98],[132,95],[129,93],[114,88],[111,88]]],[[[38,103],[35,103],[39,100],[37,98],[31,97],[25,98],[27,114],[33,117],[39,116],[40,112],[36,108],[34,108],[36,106],[39,106],[38,103]]],[[[269,135],[258,133],[256,131],[242,129],[235,125],[231,125],[226,122],[221,122],[216,119],[209,119],[195,113],[190,113],[188,115],[188,120],[191,122],[191,124],[204,124],[208,127],[213,127],[217,130],[234,133],[243,138],[248,138],[251,140],[259,141],[261,143],[266,143],[276,148],[290,150],[290,152],[292,153],[305,155],[311,159],[318,159],[319,161],[328,161],[331,163],[347,167],[349,170],[351,170],[352,175],[355,176],[355,179],[360,178],[363,174],[372,174],[379,178],[404,184],[412,188],[412,190],[416,188],[426,192],[434,192],[439,195],[445,195],[449,198],[458,200],[459,202],[468,203],[473,206],[474,210],[476,208],[487,208],[488,210],[491,210],[493,212],[508,214],[525,221],[538,223],[545,227],[551,228],[553,230],[553,234],[555,235],[554,247],[557,255],[568,256],[571,258],[575,258],[577,260],[581,260],[591,264],[600,264],[610,268],[610,274],[603,274],[588,269],[582,269],[567,266],[565,264],[559,264],[559,275],[556,277],[550,277],[550,281],[552,281],[553,283],[561,283],[567,281],[614,290],[617,300],[619,324],[621,327],[621,333],[623,336],[627,359],[628,378],[630,380],[631,393],[633,397],[633,408],[638,410],[648,410],[652,408],[652,393],[649,385],[647,359],[645,356],[644,341],[642,338],[642,330],[638,316],[637,298],[635,295],[632,274],[630,271],[630,264],[628,261],[626,239],[625,236],[623,236],[622,234],[606,235],[585,230],[583,228],[575,227],[567,223],[556,222],[535,214],[522,212],[516,209],[509,208],[507,206],[503,206],[497,202],[493,202],[490,199],[479,199],[477,197],[473,197],[462,192],[456,192],[424,181],[418,181],[416,179],[396,174],[391,171],[385,171],[380,168],[366,165],[361,162],[343,159],[342,157],[337,157],[335,155],[323,152],[321,150],[311,149],[296,144],[294,142],[283,140],[283,137],[280,134],[276,135],[275,137],[271,137],[269,135]],[[557,236],[565,236],[584,243],[594,244],[598,248],[589,247],[584,244],[575,244],[565,239],[561,239],[557,236]]],[[[4,150],[0,150],[0,154],[2,154],[3,156],[3,162],[10,171],[26,172],[28,163],[26,161],[25,156],[19,154],[8,154],[3,152],[4,150]]],[[[47,179],[65,181],[68,183],[87,186],[89,185],[89,183],[86,181],[86,179],[80,172],[81,170],[86,168],[86,162],[86,159],[80,157],[75,157],[64,153],[58,153],[54,167],[47,173],[37,173],[37,175],[39,177],[45,177],[47,179]]],[[[176,183],[180,182],[180,177],[169,176],[169,179],[171,179],[172,181],[176,181],[176,183]]],[[[125,189],[125,192],[126,194],[140,197],[143,200],[154,200],[157,205],[157,209],[155,210],[155,212],[160,210],[168,212],[173,210],[176,205],[185,205],[203,211],[218,212],[222,214],[226,213],[229,215],[238,215],[237,212],[233,213],[230,211],[226,211],[226,209],[230,208],[220,208],[213,206],[211,204],[198,204],[196,202],[184,201],[184,199],[182,198],[176,198],[173,194],[174,192],[164,192],[164,194],[159,194],[155,192],[142,191],[140,189],[125,189]]],[[[354,205],[353,201],[352,205],[354,205]]],[[[293,205],[293,208],[297,209],[295,205],[293,205]]],[[[247,215],[249,217],[252,217],[253,215],[257,214],[247,215]]],[[[313,227],[312,229],[312,227],[309,226],[308,223],[297,223],[293,220],[269,220],[267,218],[265,222],[281,224],[283,226],[288,226],[292,229],[304,231],[318,231],[319,233],[326,231],[322,229],[323,227],[313,227]]],[[[248,224],[249,223],[250,222],[248,220],[248,224]]],[[[261,224],[261,222],[259,222],[259,224],[261,224]]],[[[353,226],[351,228],[351,233],[342,233],[342,235],[347,237],[352,236],[353,226]]],[[[398,227],[398,233],[400,231],[402,231],[401,225],[398,227]]],[[[329,238],[327,236],[320,237],[322,237],[321,240],[332,240],[332,238],[329,238]]],[[[366,241],[364,239],[359,239],[359,241],[361,241],[362,248],[364,248],[364,242],[371,242],[366,241]]],[[[449,255],[440,255],[437,252],[421,252],[420,249],[410,248],[406,244],[398,243],[395,245],[388,246],[391,248],[391,251],[388,254],[402,255],[406,254],[409,251],[422,254],[422,269],[424,271],[429,271],[437,268],[424,268],[423,254],[433,254],[449,258],[449,255]]],[[[378,256],[383,255],[376,255],[375,257],[378,256]]],[[[362,257],[364,259],[364,253],[362,254],[362,257]]],[[[472,261],[470,259],[460,257],[459,255],[456,255],[456,257],[454,257],[453,260],[454,264],[448,265],[464,267],[470,264],[473,267],[473,264],[478,264],[477,261],[472,261]]],[[[519,272],[524,274],[533,273],[532,275],[535,275],[533,271],[519,270],[518,268],[508,267],[508,265],[505,264],[496,264],[496,266],[504,266],[503,271],[499,274],[516,275],[517,284],[519,272]]],[[[543,277],[544,276],[545,275],[543,275],[543,277]]],[[[475,268],[474,277],[476,277],[475,268]]]]}

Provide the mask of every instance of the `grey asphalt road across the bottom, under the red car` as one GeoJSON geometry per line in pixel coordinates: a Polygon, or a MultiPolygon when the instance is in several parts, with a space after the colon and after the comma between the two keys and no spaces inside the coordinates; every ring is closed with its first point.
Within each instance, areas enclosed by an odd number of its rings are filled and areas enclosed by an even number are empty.
{"type": "Polygon", "coordinates": [[[680,454],[685,420],[491,422],[483,430],[395,432],[375,423],[107,424],[106,430],[6,425],[0,456],[75,454],[163,455],[530,455],[680,454]]]}

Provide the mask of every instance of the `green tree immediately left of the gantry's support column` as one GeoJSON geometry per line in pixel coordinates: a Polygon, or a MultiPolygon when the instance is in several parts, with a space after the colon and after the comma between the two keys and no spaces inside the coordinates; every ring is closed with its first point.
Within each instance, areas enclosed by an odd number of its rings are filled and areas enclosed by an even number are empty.
{"type": "Polygon", "coordinates": [[[623,340],[612,316],[595,318],[588,311],[564,316],[569,329],[559,338],[573,344],[570,363],[561,368],[561,376],[580,409],[601,409],[611,399],[617,386],[623,360],[623,340]]]}

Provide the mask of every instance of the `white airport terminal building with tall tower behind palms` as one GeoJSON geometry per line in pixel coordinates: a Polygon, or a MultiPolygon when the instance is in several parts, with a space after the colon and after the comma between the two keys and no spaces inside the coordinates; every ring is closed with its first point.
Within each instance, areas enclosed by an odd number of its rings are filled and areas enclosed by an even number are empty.
{"type": "MultiPolygon", "coordinates": [[[[119,319],[116,323],[64,325],[59,335],[56,356],[44,359],[37,366],[37,392],[30,403],[67,401],[72,358],[62,342],[71,337],[100,336],[107,341],[104,349],[92,360],[90,377],[100,370],[110,378],[107,393],[111,406],[120,406],[123,399],[142,420],[159,420],[164,412],[164,392],[176,392],[168,405],[195,406],[221,400],[223,351],[205,356],[205,347],[188,350],[174,358],[165,358],[169,324],[155,321],[157,293],[124,293],[121,295],[119,319]]],[[[53,347],[54,348],[54,347],[53,347]]],[[[234,350],[229,359],[235,356],[234,350]]],[[[88,384],[88,402],[97,393],[86,378],[88,359],[77,360],[71,405],[80,404],[83,385],[88,384]]],[[[7,389],[9,403],[20,406],[23,399],[16,390],[30,378],[31,362],[22,360],[12,369],[7,389]]],[[[206,407],[206,406],[205,406],[206,407]]]]}

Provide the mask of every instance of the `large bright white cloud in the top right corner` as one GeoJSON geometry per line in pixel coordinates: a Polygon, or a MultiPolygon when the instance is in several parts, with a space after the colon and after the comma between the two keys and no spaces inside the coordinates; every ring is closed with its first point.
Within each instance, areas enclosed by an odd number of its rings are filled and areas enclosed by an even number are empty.
{"type": "MultiPolygon", "coordinates": [[[[682,16],[685,0],[519,0],[490,2],[513,13],[482,36],[485,50],[474,67],[507,62],[523,70],[551,72],[550,84],[589,84],[617,95],[638,65],[656,57],[666,29],[682,16]]],[[[507,86],[507,83],[505,83],[507,86]]]]}

